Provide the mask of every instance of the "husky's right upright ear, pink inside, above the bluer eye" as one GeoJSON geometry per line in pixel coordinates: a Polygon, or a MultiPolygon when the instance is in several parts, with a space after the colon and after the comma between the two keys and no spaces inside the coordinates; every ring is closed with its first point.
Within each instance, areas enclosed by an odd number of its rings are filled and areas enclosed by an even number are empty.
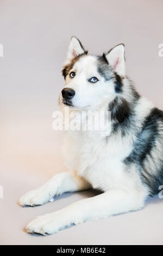
{"type": "Polygon", "coordinates": [[[120,44],[112,48],[106,55],[109,65],[112,70],[117,72],[118,75],[125,75],[125,57],[124,57],[124,45],[120,44]]]}

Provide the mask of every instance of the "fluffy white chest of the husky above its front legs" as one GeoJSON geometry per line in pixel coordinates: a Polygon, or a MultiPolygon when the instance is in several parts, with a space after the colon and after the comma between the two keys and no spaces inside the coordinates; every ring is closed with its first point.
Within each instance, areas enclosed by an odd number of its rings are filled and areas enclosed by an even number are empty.
{"type": "Polygon", "coordinates": [[[124,148],[119,138],[106,140],[98,134],[76,134],[72,142],[71,168],[89,181],[93,188],[106,191],[109,187],[120,184],[124,179],[123,159],[131,148],[124,148]],[[125,152],[125,154],[124,154],[125,152]]]}

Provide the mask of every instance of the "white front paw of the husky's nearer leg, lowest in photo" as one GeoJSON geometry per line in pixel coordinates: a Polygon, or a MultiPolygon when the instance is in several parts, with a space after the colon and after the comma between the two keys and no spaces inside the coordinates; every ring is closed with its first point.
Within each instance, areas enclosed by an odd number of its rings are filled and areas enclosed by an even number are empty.
{"type": "Polygon", "coordinates": [[[58,212],[54,212],[37,217],[27,225],[26,230],[28,233],[32,234],[51,235],[57,233],[64,227],[63,218],[61,218],[58,212]]]}

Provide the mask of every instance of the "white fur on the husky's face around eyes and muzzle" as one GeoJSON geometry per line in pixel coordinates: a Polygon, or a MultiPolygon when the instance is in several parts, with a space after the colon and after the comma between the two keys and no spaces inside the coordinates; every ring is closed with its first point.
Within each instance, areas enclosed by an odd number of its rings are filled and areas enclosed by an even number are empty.
{"type": "MultiPolygon", "coordinates": [[[[95,56],[84,56],[74,64],[70,72],[76,72],[76,76],[71,79],[70,76],[66,77],[65,87],[72,88],[75,90],[76,95],[74,96],[72,103],[73,109],[77,110],[95,110],[104,100],[111,101],[115,97],[114,84],[110,80],[106,84],[104,78],[100,77],[96,69],[97,59],[95,56]],[[87,80],[91,77],[97,77],[99,81],[94,84],[87,80]]],[[[62,99],[60,97],[60,101],[62,99]]]]}

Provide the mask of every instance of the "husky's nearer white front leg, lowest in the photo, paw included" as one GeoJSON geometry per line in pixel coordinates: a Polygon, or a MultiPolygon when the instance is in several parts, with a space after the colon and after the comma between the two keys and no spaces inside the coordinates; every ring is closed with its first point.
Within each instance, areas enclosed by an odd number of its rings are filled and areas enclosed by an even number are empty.
{"type": "Polygon", "coordinates": [[[145,199],[145,195],[136,191],[112,188],[96,197],[80,200],[59,211],[37,217],[27,225],[27,231],[42,235],[53,234],[73,223],[81,224],[86,221],[138,210],[143,206],[143,199],[145,199]]]}

